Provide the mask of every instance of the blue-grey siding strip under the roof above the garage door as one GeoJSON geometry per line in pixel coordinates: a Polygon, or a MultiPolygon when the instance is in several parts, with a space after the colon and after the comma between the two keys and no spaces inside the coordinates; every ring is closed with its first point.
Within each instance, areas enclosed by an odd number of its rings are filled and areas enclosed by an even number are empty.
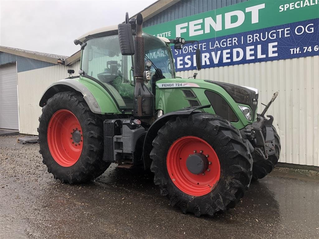
{"type": "Polygon", "coordinates": [[[39,69],[43,67],[54,66],[56,64],[27,58],[24,56],[14,55],[6,52],[0,52],[0,65],[10,62],[17,62],[18,72],[39,69]]]}

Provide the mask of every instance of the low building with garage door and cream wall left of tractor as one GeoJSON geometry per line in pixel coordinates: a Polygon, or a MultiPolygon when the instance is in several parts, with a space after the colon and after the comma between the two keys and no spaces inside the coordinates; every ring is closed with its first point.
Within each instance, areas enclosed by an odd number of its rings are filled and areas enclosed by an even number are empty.
{"type": "Polygon", "coordinates": [[[41,95],[50,84],[68,77],[68,69],[79,68],[78,61],[67,58],[0,47],[0,128],[38,134],[41,95]]]}

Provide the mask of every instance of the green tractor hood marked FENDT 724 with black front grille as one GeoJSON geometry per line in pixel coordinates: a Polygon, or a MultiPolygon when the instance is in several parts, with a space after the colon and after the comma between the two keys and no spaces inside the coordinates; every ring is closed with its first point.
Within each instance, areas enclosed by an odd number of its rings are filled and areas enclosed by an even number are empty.
{"type": "Polygon", "coordinates": [[[164,113],[178,110],[178,107],[180,109],[189,106],[211,105],[211,108],[205,109],[206,112],[222,117],[223,115],[219,112],[227,112],[227,117],[223,118],[234,122],[238,128],[245,127],[256,119],[258,90],[251,87],[211,80],[175,78],[157,81],[156,89],[157,103],[155,105],[168,105],[166,109],[163,109],[164,113]],[[170,94],[167,99],[165,95],[168,92],[170,94]],[[216,97],[219,98],[220,104],[216,103],[216,97]],[[179,106],[176,106],[175,109],[175,105],[179,106]],[[242,112],[243,107],[249,108],[250,118],[245,118],[242,112]],[[218,108],[219,112],[217,112],[218,108]]]}

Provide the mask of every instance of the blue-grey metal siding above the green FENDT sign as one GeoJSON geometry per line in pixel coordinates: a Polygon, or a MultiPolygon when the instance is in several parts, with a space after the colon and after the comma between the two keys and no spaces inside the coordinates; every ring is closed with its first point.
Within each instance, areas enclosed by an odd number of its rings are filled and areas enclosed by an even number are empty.
{"type": "Polygon", "coordinates": [[[146,20],[143,22],[143,26],[157,25],[246,1],[247,0],[182,0],[146,20]]]}

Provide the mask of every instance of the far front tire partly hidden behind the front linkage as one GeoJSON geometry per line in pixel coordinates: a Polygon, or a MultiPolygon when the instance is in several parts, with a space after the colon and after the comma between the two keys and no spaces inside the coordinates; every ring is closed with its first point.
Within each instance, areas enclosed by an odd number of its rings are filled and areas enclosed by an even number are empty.
{"type": "Polygon", "coordinates": [[[268,156],[268,159],[263,159],[260,156],[253,155],[254,163],[252,180],[254,181],[267,176],[267,174],[269,174],[278,163],[281,150],[280,138],[274,126],[272,126],[272,130],[274,131],[275,136],[275,153],[268,156]]]}

